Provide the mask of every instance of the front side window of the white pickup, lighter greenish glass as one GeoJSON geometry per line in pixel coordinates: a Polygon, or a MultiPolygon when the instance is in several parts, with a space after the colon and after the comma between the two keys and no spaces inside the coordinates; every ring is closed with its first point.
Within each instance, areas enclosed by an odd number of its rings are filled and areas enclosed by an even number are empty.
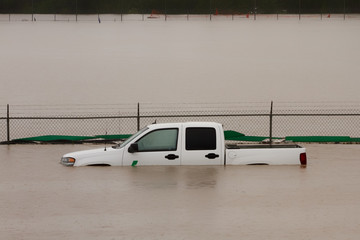
{"type": "Polygon", "coordinates": [[[177,128],[152,131],[137,141],[139,152],[176,151],[177,138],[177,128]]]}

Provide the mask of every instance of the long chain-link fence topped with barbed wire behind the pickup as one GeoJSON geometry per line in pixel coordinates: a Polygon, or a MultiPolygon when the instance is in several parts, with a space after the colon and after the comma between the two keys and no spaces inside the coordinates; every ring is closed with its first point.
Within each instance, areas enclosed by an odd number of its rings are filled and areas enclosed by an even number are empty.
{"type": "Polygon", "coordinates": [[[189,121],[219,122],[225,130],[246,136],[337,136],[360,141],[360,103],[7,105],[0,111],[3,143],[44,135],[133,134],[154,122],[189,121]]]}

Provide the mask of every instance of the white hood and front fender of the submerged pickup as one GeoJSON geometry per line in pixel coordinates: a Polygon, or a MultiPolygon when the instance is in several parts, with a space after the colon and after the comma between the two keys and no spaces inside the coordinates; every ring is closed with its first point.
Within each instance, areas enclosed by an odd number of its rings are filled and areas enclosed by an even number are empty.
{"type": "Polygon", "coordinates": [[[109,147],[106,148],[106,151],[104,148],[98,148],[93,150],[67,153],[63,156],[63,158],[75,158],[74,166],[87,166],[96,164],[121,166],[123,151],[123,148],[114,149],[109,147]]]}

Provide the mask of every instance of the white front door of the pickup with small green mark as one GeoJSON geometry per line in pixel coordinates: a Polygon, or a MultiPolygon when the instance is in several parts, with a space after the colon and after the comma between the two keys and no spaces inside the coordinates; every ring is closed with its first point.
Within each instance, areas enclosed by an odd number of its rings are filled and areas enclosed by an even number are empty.
{"type": "Polygon", "coordinates": [[[137,151],[124,152],[123,165],[180,165],[178,128],[153,130],[136,141],[137,151]]]}

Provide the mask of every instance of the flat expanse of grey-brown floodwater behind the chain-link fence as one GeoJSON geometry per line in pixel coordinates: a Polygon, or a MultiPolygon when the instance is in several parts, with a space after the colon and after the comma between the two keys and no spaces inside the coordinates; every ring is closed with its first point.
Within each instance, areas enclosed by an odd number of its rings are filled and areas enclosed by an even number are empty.
{"type": "Polygon", "coordinates": [[[359,101],[360,21],[0,22],[0,104],[359,101]]]}

